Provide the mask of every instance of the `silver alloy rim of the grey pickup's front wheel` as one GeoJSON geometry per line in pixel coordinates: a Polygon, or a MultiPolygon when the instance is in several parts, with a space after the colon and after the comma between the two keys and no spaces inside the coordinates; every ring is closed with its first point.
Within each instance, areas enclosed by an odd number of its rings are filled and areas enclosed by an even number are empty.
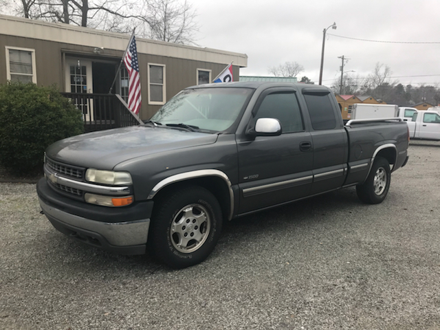
{"type": "Polygon", "coordinates": [[[195,252],[208,239],[210,228],[211,219],[206,208],[189,204],[177,212],[171,223],[171,243],[179,252],[195,252]]]}

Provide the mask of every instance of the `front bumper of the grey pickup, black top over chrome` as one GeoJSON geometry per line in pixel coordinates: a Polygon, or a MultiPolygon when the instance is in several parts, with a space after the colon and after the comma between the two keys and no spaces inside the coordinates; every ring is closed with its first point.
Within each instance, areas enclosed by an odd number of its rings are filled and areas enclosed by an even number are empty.
{"type": "Polygon", "coordinates": [[[40,206],[54,228],[78,241],[119,254],[144,254],[153,201],[107,208],[54,192],[43,178],[36,186],[40,206]]]}

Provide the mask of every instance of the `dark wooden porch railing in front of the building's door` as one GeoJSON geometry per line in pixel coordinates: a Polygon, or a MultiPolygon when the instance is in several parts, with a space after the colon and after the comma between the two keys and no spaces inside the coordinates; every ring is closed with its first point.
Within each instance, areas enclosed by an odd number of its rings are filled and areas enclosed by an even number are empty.
{"type": "Polygon", "coordinates": [[[62,93],[81,111],[85,132],[142,124],[118,95],[62,93]]]}

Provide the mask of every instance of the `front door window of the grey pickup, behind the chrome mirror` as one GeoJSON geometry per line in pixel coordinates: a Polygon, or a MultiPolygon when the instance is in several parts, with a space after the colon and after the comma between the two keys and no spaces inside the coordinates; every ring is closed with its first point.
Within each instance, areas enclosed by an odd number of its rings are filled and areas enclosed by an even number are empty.
{"type": "Polygon", "coordinates": [[[278,119],[283,133],[304,131],[303,118],[294,93],[274,93],[265,96],[254,120],[259,118],[278,119]]]}

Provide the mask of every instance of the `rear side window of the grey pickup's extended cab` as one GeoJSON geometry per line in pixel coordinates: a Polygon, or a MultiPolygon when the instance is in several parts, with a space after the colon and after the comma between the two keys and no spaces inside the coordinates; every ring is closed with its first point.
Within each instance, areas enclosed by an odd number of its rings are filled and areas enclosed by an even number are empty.
{"type": "Polygon", "coordinates": [[[304,94],[309,108],[311,126],[315,130],[334,129],[336,116],[329,94],[304,94]]]}

